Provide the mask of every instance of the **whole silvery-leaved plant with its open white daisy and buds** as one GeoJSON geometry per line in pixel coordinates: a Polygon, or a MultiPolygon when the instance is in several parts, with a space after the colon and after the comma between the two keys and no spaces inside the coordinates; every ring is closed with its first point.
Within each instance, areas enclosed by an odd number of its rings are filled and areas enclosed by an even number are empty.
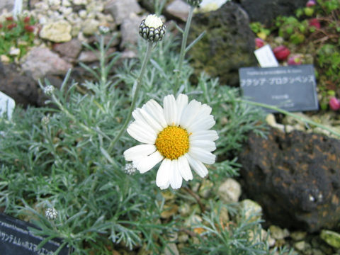
{"type": "MultiPolygon", "coordinates": [[[[119,53],[108,55],[99,36],[98,67],[82,65],[95,81],[77,84],[70,71],[60,88],[40,84],[50,98],[45,108],[16,108],[12,120],[0,119],[0,208],[38,225],[32,231],[44,242],[60,237],[60,249],[68,246],[70,254],[162,254],[174,234],[195,238],[186,217],[220,204],[215,191],[237,175],[234,152],[247,132],[261,133],[263,115],[218,79],[202,74],[191,84],[185,55],[195,41],[186,40],[200,1],[188,3],[186,28],[177,27],[179,54],[162,19],[147,16],[139,30],[141,61],[118,66],[119,53]],[[203,181],[208,196],[200,193],[203,181]]],[[[229,241],[218,246],[246,236],[224,235],[229,241]]],[[[193,244],[179,249],[194,251],[193,244]]]]}

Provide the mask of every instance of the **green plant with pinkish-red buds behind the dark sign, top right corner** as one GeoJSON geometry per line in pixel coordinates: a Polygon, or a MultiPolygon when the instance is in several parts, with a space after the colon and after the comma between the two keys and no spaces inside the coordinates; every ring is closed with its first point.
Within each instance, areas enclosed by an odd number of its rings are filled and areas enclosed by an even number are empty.
{"type": "Polygon", "coordinates": [[[338,0],[310,0],[304,8],[297,9],[295,16],[276,18],[271,28],[261,23],[251,24],[259,38],[261,31],[266,31],[263,44],[268,43],[273,48],[284,45],[290,50],[282,64],[314,64],[322,110],[329,110],[332,96],[340,97],[339,17],[338,0]]]}

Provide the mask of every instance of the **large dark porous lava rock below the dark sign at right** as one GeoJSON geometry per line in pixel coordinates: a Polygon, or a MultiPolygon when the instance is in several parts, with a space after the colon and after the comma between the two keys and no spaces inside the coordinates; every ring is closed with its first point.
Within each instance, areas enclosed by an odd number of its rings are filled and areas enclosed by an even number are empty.
{"type": "Polygon", "coordinates": [[[340,140],[272,128],[254,132],[239,154],[242,190],[260,203],[266,219],[290,229],[339,228],[340,140]]]}

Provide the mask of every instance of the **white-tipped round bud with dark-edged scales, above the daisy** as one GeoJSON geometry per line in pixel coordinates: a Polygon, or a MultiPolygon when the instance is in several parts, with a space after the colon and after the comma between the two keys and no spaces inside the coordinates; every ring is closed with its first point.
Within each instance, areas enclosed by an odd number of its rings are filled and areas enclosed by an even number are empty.
{"type": "Polygon", "coordinates": [[[161,18],[150,14],[140,23],[140,35],[145,40],[158,42],[165,35],[166,27],[161,18]]]}

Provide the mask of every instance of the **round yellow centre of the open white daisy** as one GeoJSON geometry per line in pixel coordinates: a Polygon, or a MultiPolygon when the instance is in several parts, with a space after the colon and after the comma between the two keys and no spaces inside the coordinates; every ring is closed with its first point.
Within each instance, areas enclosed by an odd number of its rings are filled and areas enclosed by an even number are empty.
{"type": "Polygon", "coordinates": [[[155,145],[162,156],[178,159],[188,152],[188,132],[183,128],[168,126],[159,132],[155,145]]]}

